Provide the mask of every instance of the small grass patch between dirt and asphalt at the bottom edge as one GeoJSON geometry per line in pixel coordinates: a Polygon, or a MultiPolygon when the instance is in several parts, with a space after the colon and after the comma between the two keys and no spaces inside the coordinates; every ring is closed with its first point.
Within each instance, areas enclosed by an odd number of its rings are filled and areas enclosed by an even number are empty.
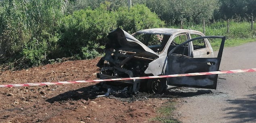
{"type": "Polygon", "coordinates": [[[150,119],[150,121],[160,121],[161,123],[181,123],[172,117],[175,111],[175,102],[168,102],[164,106],[157,109],[158,116],[150,119]]]}

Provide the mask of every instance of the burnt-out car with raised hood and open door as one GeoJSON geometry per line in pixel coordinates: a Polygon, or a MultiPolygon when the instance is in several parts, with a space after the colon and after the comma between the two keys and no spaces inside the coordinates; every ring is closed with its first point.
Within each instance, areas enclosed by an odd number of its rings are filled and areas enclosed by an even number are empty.
{"type": "MultiPolygon", "coordinates": [[[[218,71],[225,36],[205,36],[187,29],[151,28],[129,34],[117,28],[107,36],[105,56],[98,62],[100,79],[218,71]],[[208,39],[221,40],[214,57],[208,39]]],[[[218,75],[114,81],[139,90],[162,93],[175,87],[216,89],[218,75]]]]}

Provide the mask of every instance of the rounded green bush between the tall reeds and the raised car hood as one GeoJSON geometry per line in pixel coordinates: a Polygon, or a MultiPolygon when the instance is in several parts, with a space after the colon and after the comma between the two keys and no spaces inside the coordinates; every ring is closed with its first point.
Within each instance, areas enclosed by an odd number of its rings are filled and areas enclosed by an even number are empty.
{"type": "Polygon", "coordinates": [[[62,19],[62,37],[58,42],[60,56],[83,54],[85,49],[96,50],[100,45],[104,45],[104,38],[116,27],[117,23],[114,14],[106,8],[104,4],[96,10],[86,8],[75,11],[62,19]]]}

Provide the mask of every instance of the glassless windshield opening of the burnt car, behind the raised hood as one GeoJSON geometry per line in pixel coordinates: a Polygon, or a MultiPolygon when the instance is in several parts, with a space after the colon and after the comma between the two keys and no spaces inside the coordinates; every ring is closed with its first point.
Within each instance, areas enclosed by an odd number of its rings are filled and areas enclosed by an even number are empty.
{"type": "Polygon", "coordinates": [[[133,35],[136,39],[141,41],[143,44],[148,46],[154,52],[162,52],[164,46],[171,35],[164,34],[147,34],[147,33],[136,33],[133,35]]]}

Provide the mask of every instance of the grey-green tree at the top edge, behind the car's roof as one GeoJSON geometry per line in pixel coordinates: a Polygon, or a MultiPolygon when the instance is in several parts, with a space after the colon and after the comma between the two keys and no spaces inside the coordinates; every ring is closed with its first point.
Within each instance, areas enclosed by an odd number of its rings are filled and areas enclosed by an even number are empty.
{"type": "Polygon", "coordinates": [[[217,0],[147,0],[146,6],[167,23],[178,24],[181,20],[199,23],[202,18],[212,19],[214,10],[219,8],[217,3],[217,0]]]}

